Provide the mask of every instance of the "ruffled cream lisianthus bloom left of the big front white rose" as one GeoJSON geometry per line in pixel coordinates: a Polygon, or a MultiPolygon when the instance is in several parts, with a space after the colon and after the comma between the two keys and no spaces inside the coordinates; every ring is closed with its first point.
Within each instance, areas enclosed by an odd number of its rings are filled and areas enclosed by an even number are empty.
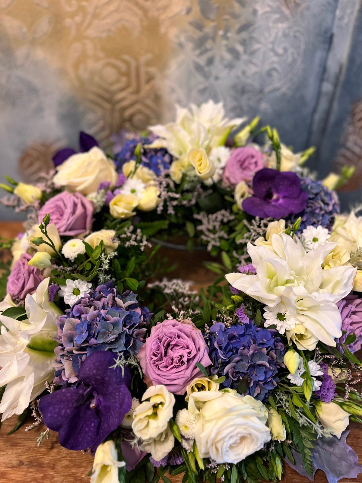
{"type": "Polygon", "coordinates": [[[142,401],[133,414],[132,429],[138,438],[151,440],[166,431],[175,397],[163,384],[158,384],[146,390],[142,401]]]}

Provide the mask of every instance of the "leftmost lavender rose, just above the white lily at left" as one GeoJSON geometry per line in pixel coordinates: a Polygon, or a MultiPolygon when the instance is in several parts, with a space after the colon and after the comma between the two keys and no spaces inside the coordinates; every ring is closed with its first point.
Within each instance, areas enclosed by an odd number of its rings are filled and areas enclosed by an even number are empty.
{"type": "Polygon", "coordinates": [[[6,292],[13,300],[17,298],[23,300],[28,294],[34,293],[44,278],[39,269],[28,265],[30,259],[31,255],[23,253],[9,275],[6,292]]]}

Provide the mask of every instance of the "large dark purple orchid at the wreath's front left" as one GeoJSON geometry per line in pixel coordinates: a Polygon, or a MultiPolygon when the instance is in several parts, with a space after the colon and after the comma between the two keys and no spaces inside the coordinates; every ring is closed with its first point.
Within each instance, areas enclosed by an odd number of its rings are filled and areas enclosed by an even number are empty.
{"type": "Polygon", "coordinates": [[[127,367],[111,367],[116,358],[109,351],[90,354],[78,372],[81,384],[40,399],[44,424],[65,448],[96,451],[131,409],[131,375],[127,367]]]}

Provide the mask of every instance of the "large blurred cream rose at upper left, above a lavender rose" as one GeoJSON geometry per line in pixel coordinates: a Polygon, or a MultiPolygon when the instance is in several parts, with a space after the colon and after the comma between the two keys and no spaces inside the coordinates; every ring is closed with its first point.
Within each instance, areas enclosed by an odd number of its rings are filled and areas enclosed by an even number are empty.
{"type": "Polygon", "coordinates": [[[113,189],[118,180],[113,161],[97,146],[87,153],[70,156],[56,169],[58,172],[53,178],[56,185],[83,195],[95,193],[101,183],[108,182],[113,189]]]}

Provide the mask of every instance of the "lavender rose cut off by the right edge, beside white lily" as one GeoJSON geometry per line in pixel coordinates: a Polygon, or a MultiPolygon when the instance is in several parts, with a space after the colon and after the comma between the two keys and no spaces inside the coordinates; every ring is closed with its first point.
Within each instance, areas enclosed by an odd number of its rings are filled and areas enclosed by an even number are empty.
{"type": "MultiPolygon", "coordinates": [[[[341,330],[346,330],[346,334],[340,337],[337,342],[343,344],[346,337],[350,334],[356,334],[356,340],[348,345],[348,349],[354,353],[361,349],[362,342],[362,298],[358,295],[349,294],[336,303],[342,318],[341,330]]],[[[343,346],[337,346],[338,350],[343,353],[343,346]]]]}

